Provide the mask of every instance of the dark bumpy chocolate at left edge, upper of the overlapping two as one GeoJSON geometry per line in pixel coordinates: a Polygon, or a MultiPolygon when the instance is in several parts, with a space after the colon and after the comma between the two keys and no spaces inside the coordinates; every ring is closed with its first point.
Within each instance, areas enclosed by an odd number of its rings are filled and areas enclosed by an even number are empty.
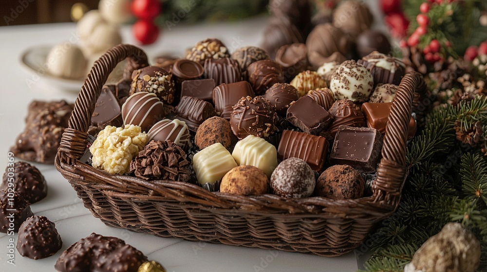
{"type": "Polygon", "coordinates": [[[9,188],[9,180],[13,181],[14,191],[18,192],[29,204],[36,203],[47,195],[47,184],[44,176],[35,167],[26,162],[14,163],[13,171],[11,167],[5,169],[3,183],[0,190],[9,188]]]}

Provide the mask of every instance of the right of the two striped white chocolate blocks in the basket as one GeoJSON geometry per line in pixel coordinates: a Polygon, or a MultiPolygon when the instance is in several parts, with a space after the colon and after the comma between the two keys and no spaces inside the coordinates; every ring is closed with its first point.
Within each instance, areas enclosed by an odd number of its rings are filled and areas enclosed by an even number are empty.
{"type": "Polygon", "coordinates": [[[277,167],[276,147],[266,140],[253,135],[246,136],[237,142],[232,153],[240,165],[251,165],[264,171],[268,178],[277,167]]]}

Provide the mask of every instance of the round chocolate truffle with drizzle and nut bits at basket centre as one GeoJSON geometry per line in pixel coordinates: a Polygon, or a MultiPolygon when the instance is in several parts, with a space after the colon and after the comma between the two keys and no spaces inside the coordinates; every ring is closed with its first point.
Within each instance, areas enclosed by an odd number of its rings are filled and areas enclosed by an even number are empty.
{"type": "Polygon", "coordinates": [[[276,119],[277,114],[267,99],[247,96],[233,106],[230,125],[239,139],[249,135],[264,138],[275,133],[276,119]]]}

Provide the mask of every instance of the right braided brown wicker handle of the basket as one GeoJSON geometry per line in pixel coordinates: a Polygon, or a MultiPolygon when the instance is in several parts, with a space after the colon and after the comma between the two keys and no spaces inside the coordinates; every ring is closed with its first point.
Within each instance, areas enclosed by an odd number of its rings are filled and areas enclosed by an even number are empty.
{"type": "Polygon", "coordinates": [[[418,93],[426,92],[426,89],[423,76],[418,72],[411,72],[403,77],[395,93],[386,124],[382,159],[372,184],[376,202],[385,201],[394,206],[399,204],[406,180],[406,147],[412,101],[418,93]]]}

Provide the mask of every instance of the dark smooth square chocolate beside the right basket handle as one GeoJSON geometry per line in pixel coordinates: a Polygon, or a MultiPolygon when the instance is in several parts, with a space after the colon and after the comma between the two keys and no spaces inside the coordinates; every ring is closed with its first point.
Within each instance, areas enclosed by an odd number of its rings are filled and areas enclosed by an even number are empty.
{"type": "Polygon", "coordinates": [[[357,171],[375,172],[382,150],[382,134],[374,128],[340,126],[330,154],[331,165],[349,165],[357,171]]]}

